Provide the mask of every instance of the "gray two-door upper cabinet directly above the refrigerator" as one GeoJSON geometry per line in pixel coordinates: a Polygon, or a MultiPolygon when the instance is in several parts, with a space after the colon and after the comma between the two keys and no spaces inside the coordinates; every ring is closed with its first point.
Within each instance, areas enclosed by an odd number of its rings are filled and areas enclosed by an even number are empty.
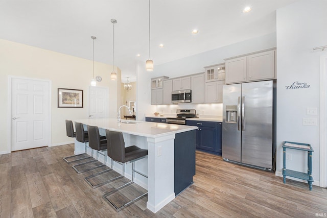
{"type": "Polygon", "coordinates": [[[225,59],[226,84],[275,79],[275,49],[225,59]]]}

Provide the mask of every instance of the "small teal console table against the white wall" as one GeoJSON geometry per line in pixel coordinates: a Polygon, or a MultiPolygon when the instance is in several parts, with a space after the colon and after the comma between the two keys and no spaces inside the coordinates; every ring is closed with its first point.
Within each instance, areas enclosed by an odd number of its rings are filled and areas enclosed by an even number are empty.
{"type": "Polygon", "coordinates": [[[313,149],[310,144],[298,143],[298,142],[283,142],[283,176],[284,183],[286,183],[286,176],[307,180],[309,184],[309,189],[312,190],[312,152],[313,149]],[[292,171],[291,169],[286,169],[286,149],[295,149],[308,152],[308,173],[302,173],[298,171],[292,171]]]}

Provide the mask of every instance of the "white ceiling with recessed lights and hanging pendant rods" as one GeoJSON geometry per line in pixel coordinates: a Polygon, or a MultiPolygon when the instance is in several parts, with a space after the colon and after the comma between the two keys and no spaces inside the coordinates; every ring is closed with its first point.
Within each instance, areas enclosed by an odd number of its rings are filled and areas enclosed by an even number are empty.
{"type": "MultiPolygon", "coordinates": [[[[276,31],[276,9],[298,0],[151,0],[155,66],[276,31]],[[242,13],[245,6],[252,10],[242,13]],[[192,30],[197,29],[197,34],[192,30]],[[160,48],[159,44],[164,44],[160,48]]],[[[0,38],[113,64],[136,80],[149,58],[148,0],[0,0],[0,38]],[[137,57],[136,55],[141,56],[137,57]]],[[[108,72],[109,73],[109,72],[108,72]]]]}

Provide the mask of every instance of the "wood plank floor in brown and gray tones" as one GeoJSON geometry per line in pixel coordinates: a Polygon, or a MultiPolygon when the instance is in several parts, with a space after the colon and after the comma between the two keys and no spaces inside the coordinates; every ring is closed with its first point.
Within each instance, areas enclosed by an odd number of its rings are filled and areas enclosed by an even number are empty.
{"type": "MultiPolygon", "coordinates": [[[[62,158],[74,144],[0,155],[0,217],[315,217],[327,213],[327,190],[196,152],[194,184],[156,214],[147,197],[115,212],[62,158]],[[316,215],[317,216],[317,215],[316,215]]],[[[96,171],[101,171],[101,168],[96,171]]]]}

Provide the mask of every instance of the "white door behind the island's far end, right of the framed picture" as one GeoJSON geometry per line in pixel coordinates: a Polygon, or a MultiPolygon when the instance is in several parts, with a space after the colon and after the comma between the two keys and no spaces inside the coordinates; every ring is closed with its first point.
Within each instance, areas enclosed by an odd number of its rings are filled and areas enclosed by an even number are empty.
{"type": "Polygon", "coordinates": [[[89,87],[89,118],[108,117],[108,88],[89,87]]]}

